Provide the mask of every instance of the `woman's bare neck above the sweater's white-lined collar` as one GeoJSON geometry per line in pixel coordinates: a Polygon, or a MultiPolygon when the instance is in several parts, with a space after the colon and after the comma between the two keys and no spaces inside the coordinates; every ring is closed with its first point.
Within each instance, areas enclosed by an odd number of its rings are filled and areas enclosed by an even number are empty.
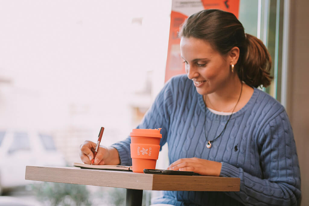
{"type": "Polygon", "coordinates": [[[207,107],[216,111],[232,112],[239,101],[243,84],[238,78],[237,80],[211,94],[203,95],[207,107]]]}

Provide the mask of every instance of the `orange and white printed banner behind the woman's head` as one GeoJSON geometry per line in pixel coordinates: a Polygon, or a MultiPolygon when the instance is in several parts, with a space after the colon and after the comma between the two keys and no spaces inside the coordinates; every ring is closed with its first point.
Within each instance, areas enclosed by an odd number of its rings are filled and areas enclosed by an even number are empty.
{"type": "Polygon", "coordinates": [[[204,9],[221,9],[233,13],[238,18],[239,0],[172,0],[170,35],[168,39],[165,82],[177,74],[185,74],[180,56],[180,25],[188,16],[204,9]]]}

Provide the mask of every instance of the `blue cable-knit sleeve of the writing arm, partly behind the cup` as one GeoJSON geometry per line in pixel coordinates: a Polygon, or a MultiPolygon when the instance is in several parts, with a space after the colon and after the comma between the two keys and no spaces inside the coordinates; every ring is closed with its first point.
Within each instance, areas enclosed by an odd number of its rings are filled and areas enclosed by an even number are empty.
{"type": "MultiPolygon", "coordinates": [[[[165,84],[150,109],[146,112],[142,122],[136,127],[142,129],[162,128],[162,139],[160,141],[161,148],[166,143],[167,133],[170,125],[170,113],[173,103],[171,92],[172,82],[173,79],[165,84]]],[[[118,150],[121,165],[132,165],[130,143],[131,137],[128,136],[124,141],[120,141],[111,145],[118,150]]]]}

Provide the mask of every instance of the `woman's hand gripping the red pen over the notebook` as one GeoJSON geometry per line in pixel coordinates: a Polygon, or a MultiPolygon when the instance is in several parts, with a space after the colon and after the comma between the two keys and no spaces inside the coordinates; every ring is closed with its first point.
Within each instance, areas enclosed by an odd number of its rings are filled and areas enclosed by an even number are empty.
{"type": "MultiPolygon", "coordinates": [[[[91,164],[96,143],[92,141],[84,141],[80,145],[79,157],[85,164],[91,164]]],[[[99,146],[98,153],[95,155],[94,165],[119,165],[119,153],[114,147],[99,146]]]]}

